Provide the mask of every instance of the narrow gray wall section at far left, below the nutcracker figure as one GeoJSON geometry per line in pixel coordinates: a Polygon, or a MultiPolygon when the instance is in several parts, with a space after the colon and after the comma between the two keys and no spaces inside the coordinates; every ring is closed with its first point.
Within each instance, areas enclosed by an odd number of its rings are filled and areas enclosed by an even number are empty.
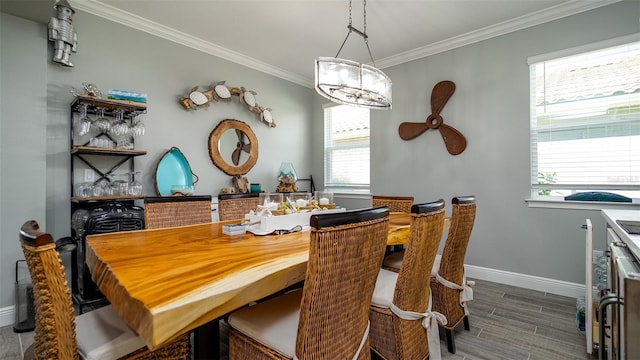
{"type": "Polygon", "coordinates": [[[15,261],[24,258],[20,226],[28,219],[47,225],[43,29],[0,14],[0,308],[13,304],[15,261]]]}

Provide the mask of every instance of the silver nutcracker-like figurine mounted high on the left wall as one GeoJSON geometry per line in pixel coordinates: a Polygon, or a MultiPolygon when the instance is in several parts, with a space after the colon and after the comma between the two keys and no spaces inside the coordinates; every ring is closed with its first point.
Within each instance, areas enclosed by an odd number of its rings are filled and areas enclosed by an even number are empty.
{"type": "Polygon", "coordinates": [[[53,61],[73,67],[69,61],[71,52],[76,52],[78,37],[71,25],[75,10],[67,0],[58,0],[54,6],[56,16],[49,20],[49,41],[54,42],[53,61]]]}

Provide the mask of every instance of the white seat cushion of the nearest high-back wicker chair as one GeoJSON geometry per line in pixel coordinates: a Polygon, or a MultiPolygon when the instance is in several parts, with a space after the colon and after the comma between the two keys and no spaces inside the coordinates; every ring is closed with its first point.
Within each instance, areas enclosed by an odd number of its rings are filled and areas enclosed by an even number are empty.
{"type": "Polygon", "coordinates": [[[262,345],[293,358],[302,290],[249,306],[229,315],[229,325],[262,345]]]}

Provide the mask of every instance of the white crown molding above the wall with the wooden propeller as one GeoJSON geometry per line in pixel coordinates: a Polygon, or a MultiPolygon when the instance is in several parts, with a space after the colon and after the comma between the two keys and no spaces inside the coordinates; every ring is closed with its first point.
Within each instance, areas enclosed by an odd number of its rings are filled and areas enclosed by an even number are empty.
{"type": "Polygon", "coordinates": [[[439,54],[465,45],[470,45],[500,35],[526,29],[528,27],[544,24],[549,21],[561,19],[563,17],[575,15],[584,11],[592,10],[620,1],[622,0],[572,0],[509,21],[487,26],[476,31],[468,32],[459,36],[454,36],[446,40],[438,41],[413,50],[405,51],[397,55],[376,60],[376,65],[378,65],[379,68],[383,69],[390,66],[404,64],[409,61],[439,54]]]}

